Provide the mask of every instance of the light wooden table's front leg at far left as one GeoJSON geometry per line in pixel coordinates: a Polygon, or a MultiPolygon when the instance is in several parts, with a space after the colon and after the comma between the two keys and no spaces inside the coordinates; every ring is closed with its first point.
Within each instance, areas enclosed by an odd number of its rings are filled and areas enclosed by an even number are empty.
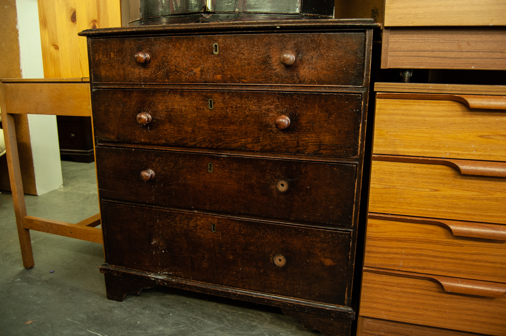
{"type": "Polygon", "coordinates": [[[23,228],[23,217],[26,216],[25,195],[23,194],[23,183],[21,181],[21,170],[19,167],[18,144],[16,142],[16,129],[14,117],[7,113],[4,100],[4,88],[0,83],[0,109],[2,110],[2,125],[4,128],[5,146],[7,149],[7,165],[9,166],[9,178],[11,180],[12,200],[16,225],[18,227],[19,245],[21,247],[21,258],[23,266],[33,267],[33,253],[31,248],[30,230],[23,228]]]}

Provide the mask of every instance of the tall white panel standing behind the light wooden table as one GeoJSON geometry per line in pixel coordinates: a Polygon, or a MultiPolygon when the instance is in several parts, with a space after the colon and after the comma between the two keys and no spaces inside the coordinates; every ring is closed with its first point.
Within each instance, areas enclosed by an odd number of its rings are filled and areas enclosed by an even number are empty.
{"type": "MultiPolygon", "coordinates": [[[[44,78],[37,0],[16,0],[23,78],[44,78]]],[[[54,115],[28,115],[37,194],[63,186],[58,129],[54,115]]]]}

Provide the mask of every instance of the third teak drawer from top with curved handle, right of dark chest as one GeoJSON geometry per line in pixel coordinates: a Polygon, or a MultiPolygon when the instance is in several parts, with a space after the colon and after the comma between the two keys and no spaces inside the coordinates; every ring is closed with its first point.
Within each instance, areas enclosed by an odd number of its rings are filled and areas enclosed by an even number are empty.
{"type": "Polygon", "coordinates": [[[506,225],[369,214],[364,266],[506,282],[506,225]]]}

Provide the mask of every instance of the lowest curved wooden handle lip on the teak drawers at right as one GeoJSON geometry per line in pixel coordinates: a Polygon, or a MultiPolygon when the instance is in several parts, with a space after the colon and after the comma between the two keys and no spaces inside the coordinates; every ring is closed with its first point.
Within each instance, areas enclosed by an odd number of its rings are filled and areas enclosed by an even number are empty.
{"type": "Polygon", "coordinates": [[[440,284],[444,291],[463,295],[485,298],[501,298],[506,293],[506,283],[454,278],[448,276],[422,274],[404,271],[386,270],[382,268],[364,267],[364,272],[398,276],[411,279],[428,280],[440,284]]]}

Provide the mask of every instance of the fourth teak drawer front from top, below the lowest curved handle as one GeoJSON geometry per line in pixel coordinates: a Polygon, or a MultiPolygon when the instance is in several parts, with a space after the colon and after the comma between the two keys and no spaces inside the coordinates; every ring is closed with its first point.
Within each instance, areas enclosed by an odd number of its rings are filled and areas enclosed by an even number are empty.
{"type": "Polygon", "coordinates": [[[504,336],[505,314],[505,296],[460,295],[425,279],[363,273],[362,316],[504,336]]]}

